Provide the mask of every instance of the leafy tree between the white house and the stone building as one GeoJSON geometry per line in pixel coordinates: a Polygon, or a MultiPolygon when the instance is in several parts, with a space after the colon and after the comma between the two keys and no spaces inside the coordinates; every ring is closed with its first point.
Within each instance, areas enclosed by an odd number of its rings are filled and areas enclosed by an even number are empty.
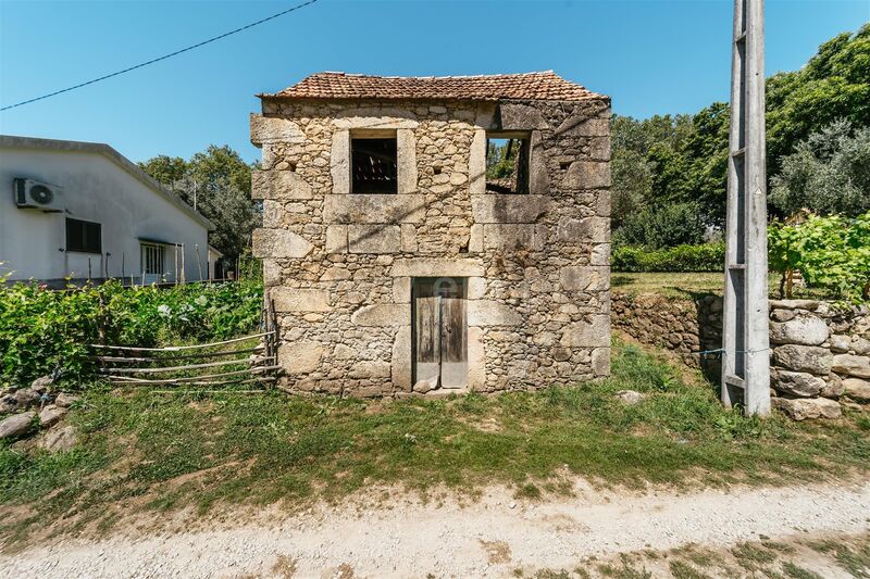
{"type": "Polygon", "coordinates": [[[189,161],[159,155],[139,166],[214,223],[209,242],[229,263],[250,247],[261,223],[260,207],[251,200],[253,166],[228,146],[209,146],[189,161]]]}

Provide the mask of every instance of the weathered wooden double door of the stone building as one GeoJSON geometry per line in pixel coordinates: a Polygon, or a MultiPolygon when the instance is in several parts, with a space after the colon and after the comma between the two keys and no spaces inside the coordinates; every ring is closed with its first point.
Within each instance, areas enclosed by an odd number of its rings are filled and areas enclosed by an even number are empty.
{"type": "Polygon", "coordinates": [[[468,385],[468,314],[463,278],[418,278],[413,284],[414,383],[468,385]]]}

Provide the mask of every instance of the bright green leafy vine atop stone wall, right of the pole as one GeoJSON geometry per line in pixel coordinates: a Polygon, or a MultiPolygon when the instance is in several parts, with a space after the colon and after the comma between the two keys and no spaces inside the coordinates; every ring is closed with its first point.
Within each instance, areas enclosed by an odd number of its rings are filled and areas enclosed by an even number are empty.
{"type": "Polygon", "coordinates": [[[809,215],[798,225],[773,223],[768,255],[770,269],[782,272],[788,297],[785,281],[800,272],[810,288],[852,302],[870,300],[870,211],[854,219],[809,215]]]}

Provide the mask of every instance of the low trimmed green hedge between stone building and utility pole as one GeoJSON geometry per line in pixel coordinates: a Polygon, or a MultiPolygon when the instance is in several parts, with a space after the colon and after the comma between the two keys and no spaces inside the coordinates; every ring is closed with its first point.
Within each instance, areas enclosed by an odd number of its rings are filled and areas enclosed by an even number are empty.
{"type": "Polygon", "coordinates": [[[648,249],[624,246],[613,250],[614,272],[722,272],[725,265],[724,243],[678,246],[648,249]]]}

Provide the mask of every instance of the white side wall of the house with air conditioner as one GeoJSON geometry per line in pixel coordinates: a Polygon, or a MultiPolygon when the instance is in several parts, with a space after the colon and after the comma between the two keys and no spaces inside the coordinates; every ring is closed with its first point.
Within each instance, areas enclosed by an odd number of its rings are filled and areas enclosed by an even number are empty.
{"type": "MultiPolygon", "coordinates": [[[[208,230],[191,215],[97,152],[0,148],[0,273],[11,279],[61,279],[72,275],[110,277],[141,275],[139,238],[185,244],[185,277],[208,277],[208,230]],[[25,177],[64,188],[66,214],[18,209],[12,181],[25,177]],[[102,226],[102,254],[65,251],[65,217],[102,226]],[[63,251],[62,251],[63,250],[63,251]],[[110,254],[107,256],[107,253],[110,254]]],[[[165,269],[174,274],[174,250],[166,250],[165,269]]]]}

